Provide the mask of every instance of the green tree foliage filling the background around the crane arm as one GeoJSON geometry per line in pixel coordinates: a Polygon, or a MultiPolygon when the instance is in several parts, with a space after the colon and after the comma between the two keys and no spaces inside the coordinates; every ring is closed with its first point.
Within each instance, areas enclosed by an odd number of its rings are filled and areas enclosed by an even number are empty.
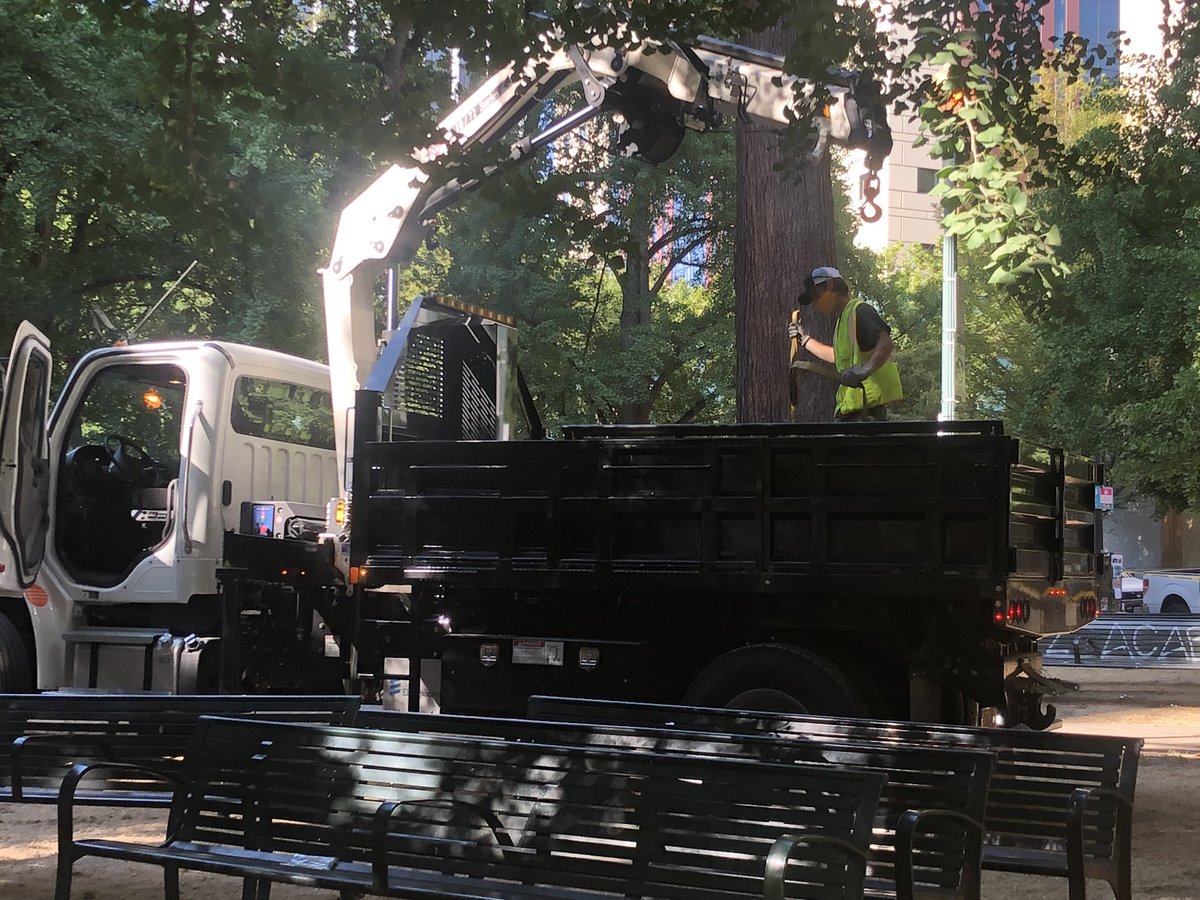
{"type": "MultiPolygon", "coordinates": [[[[1196,164],[1194,78],[1181,74],[1200,43],[1194,13],[1172,20],[1160,98],[1118,127],[1117,113],[1141,101],[1080,86],[1093,48],[1045,54],[1024,0],[977,7],[890,4],[912,38],[881,44],[866,5],[835,0],[0,0],[0,330],[29,317],[77,355],[98,337],[92,304],[130,328],[194,259],[138,337],[317,354],[316,269],[336,212],[384,162],[426,143],[448,104],[446,48],[481,74],[524,55],[547,28],[540,13],[559,29],[551,47],[613,34],[731,37],[782,23],[796,36],[792,72],[820,80],[848,61],[890,76],[894,97],[920,109],[948,162],[970,414],[1003,414],[1073,446],[1136,448],[1154,403],[1190,390],[1194,302],[1162,276],[1163,287],[1140,289],[1159,311],[1142,319],[1120,318],[1104,298],[1146,271],[1193,271],[1195,206],[1178,173],[1196,164]],[[964,102],[948,106],[954,92],[964,102]],[[1068,122],[1078,110],[1085,115],[1068,122]],[[1043,276],[1032,280],[1037,290],[1025,275],[1043,276]],[[1000,289],[1009,282],[1021,306],[1000,289]],[[1109,346],[1100,322],[1130,335],[1129,346],[1115,343],[1111,366],[1084,349],[1109,346]],[[1151,340],[1154,326],[1170,340],[1151,340]],[[1097,388],[1084,374],[1061,376],[1075,361],[1104,372],[1104,409],[1135,398],[1121,407],[1120,428],[1087,413],[1099,407],[1085,402],[1097,388]],[[1141,370],[1150,376],[1130,374],[1141,370]]],[[[608,133],[593,139],[611,144],[608,133]]],[[[443,224],[444,246],[403,272],[401,295],[449,290],[516,314],[530,382],[554,421],[725,416],[731,160],[728,138],[690,136],[659,168],[584,148],[570,166],[526,169],[443,224]],[[676,230],[655,247],[673,203],[676,230]],[[706,248],[695,280],[676,259],[694,242],[706,248]]],[[[931,416],[937,254],[864,256],[844,268],[896,325],[907,414],[931,416]]],[[[1148,474],[1135,480],[1158,490],[1148,474]]]]}

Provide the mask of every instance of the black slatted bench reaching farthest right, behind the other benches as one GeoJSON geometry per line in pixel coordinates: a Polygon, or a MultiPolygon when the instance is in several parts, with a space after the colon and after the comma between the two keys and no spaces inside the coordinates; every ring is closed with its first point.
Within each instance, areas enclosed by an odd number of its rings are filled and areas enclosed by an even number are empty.
{"type": "Polygon", "coordinates": [[[1072,900],[1086,896],[1087,878],[1106,881],[1117,900],[1132,898],[1138,738],[566,697],[533,697],[529,713],[575,722],[991,749],[996,767],[984,815],[983,868],[1064,877],[1072,900]]]}

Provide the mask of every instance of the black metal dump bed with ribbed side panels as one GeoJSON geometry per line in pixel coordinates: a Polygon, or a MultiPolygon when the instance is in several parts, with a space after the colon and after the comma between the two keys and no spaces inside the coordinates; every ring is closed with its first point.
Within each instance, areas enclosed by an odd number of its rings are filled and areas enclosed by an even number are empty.
{"type": "Polygon", "coordinates": [[[1094,467],[1000,422],[589,426],[358,455],[352,563],[374,586],[991,598],[1027,634],[1094,602],[1094,467]]]}

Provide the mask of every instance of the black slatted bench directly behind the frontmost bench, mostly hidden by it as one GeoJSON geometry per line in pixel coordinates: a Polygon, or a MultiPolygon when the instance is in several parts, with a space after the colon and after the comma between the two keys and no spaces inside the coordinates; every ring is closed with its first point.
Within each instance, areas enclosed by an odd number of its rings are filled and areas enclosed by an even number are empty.
{"type": "Polygon", "coordinates": [[[848,740],[817,743],[791,736],[780,739],[768,734],[682,732],[647,726],[422,715],[378,707],[360,709],[355,724],[420,734],[877,768],[888,780],[875,817],[865,895],[901,900],[979,896],[983,812],[995,758],[990,751],[848,740]]]}

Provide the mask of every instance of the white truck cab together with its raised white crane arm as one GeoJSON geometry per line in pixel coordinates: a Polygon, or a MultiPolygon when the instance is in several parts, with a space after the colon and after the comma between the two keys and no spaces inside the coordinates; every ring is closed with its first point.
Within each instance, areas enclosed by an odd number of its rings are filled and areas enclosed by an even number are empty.
{"type": "MultiPolygon", "coordinates": [[[[222,341],[110,347],[79,361],[52,413],[49,341],[24,324],[0,404],[0,691],[358,689],[360,644],[378,655],[408,628],[366,624],[342,545],[355,391],[377,361],[390,377],[403,352],[376,334],[376,276],[504,168],[457,160],[572,83],[584,104],[514,143],[512,163],[602,113],[623,116],[624,152],[658,162],[724,116],[781,127],[798,92],[816,90],[784,77],[780,58],[708,38],[510,65],[450,113],[442,142],[344,210],[324,270],[329,368],[222,341]],[[277,540],[264,548],[264,536],[277,540]]],[[[882,158],[875,86],[841,78],[826,91],[818,149],[882,158]]],[[[527,391],[512,323],[450,301],[410,314],[407,325],[440,323],[493,348],[480,374],[490,390],[470,412],[486,437],[514,437],[527,391]]]]}

